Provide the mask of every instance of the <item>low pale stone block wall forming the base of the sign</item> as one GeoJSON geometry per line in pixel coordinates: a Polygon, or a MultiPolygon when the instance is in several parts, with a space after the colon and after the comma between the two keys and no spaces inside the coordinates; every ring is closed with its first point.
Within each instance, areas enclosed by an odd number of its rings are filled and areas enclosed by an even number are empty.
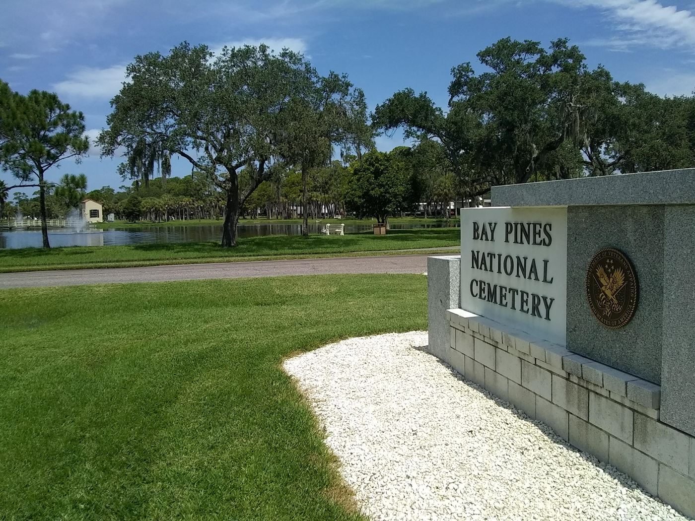
{"type": "Polygon", "coordinates": [[[660,421],[660,386],[462,309],[446,318],[440,358],[457,372],[695,517],[695,437],[660,421]]]}

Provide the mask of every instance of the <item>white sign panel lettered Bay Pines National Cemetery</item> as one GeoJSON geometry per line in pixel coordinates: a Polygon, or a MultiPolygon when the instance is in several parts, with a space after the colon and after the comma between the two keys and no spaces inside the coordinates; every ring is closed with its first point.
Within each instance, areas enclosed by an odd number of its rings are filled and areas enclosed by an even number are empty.
{"type": "Polygon", "coordinates": [[[461,208],[461,308],[565,345],[566,208],[461,208]]]}

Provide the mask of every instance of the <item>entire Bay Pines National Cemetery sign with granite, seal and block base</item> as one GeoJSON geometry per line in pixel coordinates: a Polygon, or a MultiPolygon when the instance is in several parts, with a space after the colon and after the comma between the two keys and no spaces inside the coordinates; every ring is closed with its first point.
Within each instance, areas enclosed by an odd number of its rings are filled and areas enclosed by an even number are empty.
{"type": "Polygon", "coordinates": [[[491,198],[428,261],[428,349],[695,516],[695,169],[491,198]]]}

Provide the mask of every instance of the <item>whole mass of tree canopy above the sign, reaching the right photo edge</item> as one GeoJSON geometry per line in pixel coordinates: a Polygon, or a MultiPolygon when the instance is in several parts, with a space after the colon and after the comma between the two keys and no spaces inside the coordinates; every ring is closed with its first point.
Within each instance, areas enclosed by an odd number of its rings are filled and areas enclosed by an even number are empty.
{"type": "Polygon", "coordinates": [[[492,185],[692,166],[695,98],[590,70],[575,45],[503,38],[452,68],[448,107],[406,88],[375,108],[387,133],[438,142],[464,199],[492,185]]]}

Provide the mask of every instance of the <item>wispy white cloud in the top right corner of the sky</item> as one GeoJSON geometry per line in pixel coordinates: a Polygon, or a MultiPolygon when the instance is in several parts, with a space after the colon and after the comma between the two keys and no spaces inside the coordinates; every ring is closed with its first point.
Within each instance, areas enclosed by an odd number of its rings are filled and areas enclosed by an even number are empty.
{"type": "Polygon", "coordinates": [[[619,35],[591,40],[614,50],[648,45],[660,49],[695,51],[695,15],[656,0],[559,0],[567,6],[598,8],[616,22],[619,35]]]}

